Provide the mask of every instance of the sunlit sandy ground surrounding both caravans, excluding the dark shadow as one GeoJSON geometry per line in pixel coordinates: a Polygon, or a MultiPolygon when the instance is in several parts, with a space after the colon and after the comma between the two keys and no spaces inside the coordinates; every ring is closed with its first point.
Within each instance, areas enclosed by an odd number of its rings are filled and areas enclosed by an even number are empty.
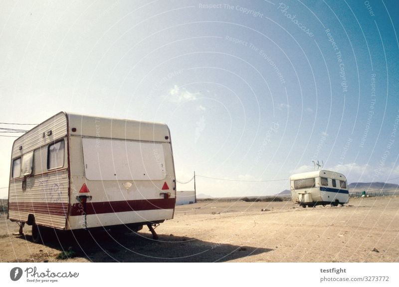
{"type": "Polygon", "coordinates": [[[345,207],[292,202],[202,201],[139,233],[63,232],[31,242],[0,216],[0,262],[399,262],[399,197],[351,199],[345,207]],[[261,211],[266,209],[266,211],[261,211]],[[63,250],[74,258],[57,260],[63,250]]]}

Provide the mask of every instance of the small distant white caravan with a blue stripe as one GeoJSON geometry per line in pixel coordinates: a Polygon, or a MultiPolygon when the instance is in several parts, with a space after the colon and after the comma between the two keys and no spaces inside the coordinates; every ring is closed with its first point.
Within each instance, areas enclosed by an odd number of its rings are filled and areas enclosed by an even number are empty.
{"type": "Polygon", "coordinates": [[[341,173],[318,170],[294,174],[290,185],[292,201],[303,207],[349,202],[348,185],[341,173]]]}

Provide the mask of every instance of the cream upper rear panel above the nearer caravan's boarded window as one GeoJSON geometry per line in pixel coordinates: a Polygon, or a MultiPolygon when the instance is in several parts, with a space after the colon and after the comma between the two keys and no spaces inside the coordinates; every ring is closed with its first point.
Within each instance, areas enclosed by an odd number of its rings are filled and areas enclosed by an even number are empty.
{"type": "Polygon", "coordinates": [[[70,132],[72,136],[170,142],[169,128],[166,124],[70,113],[68,118],[69,128],[76,128],[76,132],[70,132]]]}

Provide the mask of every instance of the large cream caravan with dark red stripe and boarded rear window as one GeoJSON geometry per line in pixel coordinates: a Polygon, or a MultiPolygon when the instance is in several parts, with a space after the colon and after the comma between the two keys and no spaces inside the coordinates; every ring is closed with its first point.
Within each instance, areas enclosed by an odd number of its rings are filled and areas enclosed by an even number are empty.
{"type": "Polygon", "coordinates": [[[11,221],[60,230],[140,228],[172,219],[175,202],[165,124],[60,112],[13,144],[11,221]]]}

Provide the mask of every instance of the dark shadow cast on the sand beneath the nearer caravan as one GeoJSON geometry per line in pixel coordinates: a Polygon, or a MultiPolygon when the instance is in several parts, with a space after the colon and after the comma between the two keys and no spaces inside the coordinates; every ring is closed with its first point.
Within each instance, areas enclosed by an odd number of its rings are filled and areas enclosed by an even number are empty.
{"type": "MultiPolygon", "coordinates": [[[[46,246],[68,256],[73,251],[74,257],[92,262],[225,262],[272,250],[164,234],[154,240],[151,234],[140,232],[57,232],[46,238],[46,246]]],[[[26,239],[31,241],[31,236],[26,239]]]]}

